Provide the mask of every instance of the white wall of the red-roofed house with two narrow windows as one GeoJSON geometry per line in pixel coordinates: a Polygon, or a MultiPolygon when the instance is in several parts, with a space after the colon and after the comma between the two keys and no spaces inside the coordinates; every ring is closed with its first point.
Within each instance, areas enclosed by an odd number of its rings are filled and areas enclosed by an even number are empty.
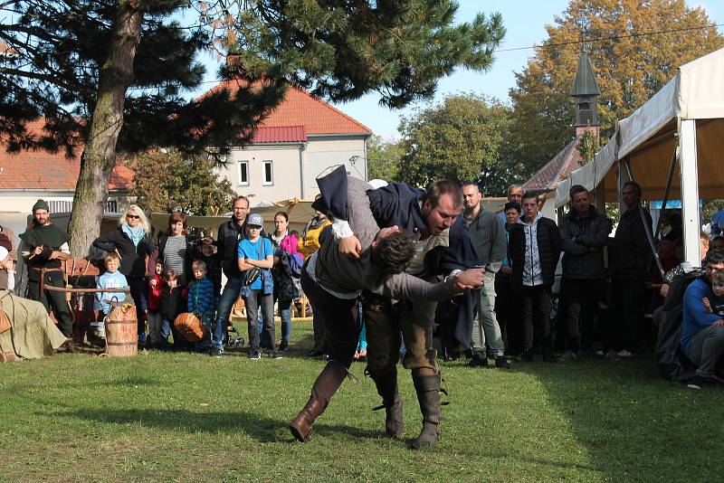
{"type": "Polygon", "coordinates": [[[233,149],[230,162],[218,168],[217,174],[231,181],[236,193],[248,196],[252,206],[295,197],[310,199],[319,193],[317,176],[330,166],[344,164],[349,175],[366,179],[365,142],[364,136],[309,137],[307,143],[233,149]],[[271,185],[263,184],[265,161],[271,161],[271,185]],[[240,179],[243,163],[247,166],[246,183],[240,179]]]}

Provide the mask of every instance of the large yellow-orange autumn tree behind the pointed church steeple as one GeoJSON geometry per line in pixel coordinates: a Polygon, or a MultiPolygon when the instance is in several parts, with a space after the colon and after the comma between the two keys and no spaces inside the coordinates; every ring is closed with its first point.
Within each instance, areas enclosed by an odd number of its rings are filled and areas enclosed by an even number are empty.
{"type": "Polygon", "coordinates": [[[602,137],[672,79],[676,68],[722,45],[716,26],[700,7],[683,0],[572,0],[548,39],[510,90],[514,110],[510,145],[526,175],[548,162],[574,136],[569,96],[586,26],[588,56],[601,90],[602,137]],[[681,32],[662,32],[681,30],[681,32]],[[654,33],[662,32],[662,33],[654,33]],[[653,33],[653,34],[648,34],[653,33]]]}

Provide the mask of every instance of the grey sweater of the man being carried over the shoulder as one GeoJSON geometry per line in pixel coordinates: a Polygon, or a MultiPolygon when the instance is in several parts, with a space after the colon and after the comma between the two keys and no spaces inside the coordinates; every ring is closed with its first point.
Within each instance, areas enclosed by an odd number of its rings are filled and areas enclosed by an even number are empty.
{"type": "Polygon", "coordinates": [[[440,301],[456,295],[452,282],[433,284],[407,273],[390,275],[372,263],[372,242],[379,227],[369,209],[369,189],[364,181],[348,176],[348,221],[362,245],[362,256],[355,260],[339,253],[332,230],[327,229],[319,239],[321,246],[316,254],[315,276],[319,284],[337,293],[367,289],[395,299],[440,301]]]}

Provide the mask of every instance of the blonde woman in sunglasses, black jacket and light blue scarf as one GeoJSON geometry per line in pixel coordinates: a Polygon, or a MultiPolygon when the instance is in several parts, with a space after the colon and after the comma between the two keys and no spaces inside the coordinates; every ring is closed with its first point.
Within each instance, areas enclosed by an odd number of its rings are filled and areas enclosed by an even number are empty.
{"type": "Polygon", "coordinates": [[[129,281],[130,296],[136,302],[138,317],[138,345],[146,343],[146,310],[148,309],[146,285],[147,257],[153,252],[151,227],[146,214],[138,205],[131,204],[119,218],[119,226],[101,235],[93,246],[103,251],[115,251],[120,257],[119,272],[129,281]]]}

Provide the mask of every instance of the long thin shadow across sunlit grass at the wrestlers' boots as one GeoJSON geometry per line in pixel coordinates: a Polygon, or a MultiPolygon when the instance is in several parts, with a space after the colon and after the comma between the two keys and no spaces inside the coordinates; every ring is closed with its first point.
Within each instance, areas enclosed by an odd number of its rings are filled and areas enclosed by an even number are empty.
{"type": "MultiPolygon", "coordinates": [[[[260,442],[279,440],[294,441],[289,431],[290,421],[279,421],[254,412],[193,412],[188,410],[109,410],[79,409],[53,412],[52,416],[85,420],[105,424],[138,425],[163,431],[184,431],[187,433],[232,433],[244,434],[260,442]]],[[[347,425],[326,425],[323,421],[314,425],[315,434],[332,436],[344,433],[355,438],[374,438],[379,431],[363,430],[347,425]]]]}

